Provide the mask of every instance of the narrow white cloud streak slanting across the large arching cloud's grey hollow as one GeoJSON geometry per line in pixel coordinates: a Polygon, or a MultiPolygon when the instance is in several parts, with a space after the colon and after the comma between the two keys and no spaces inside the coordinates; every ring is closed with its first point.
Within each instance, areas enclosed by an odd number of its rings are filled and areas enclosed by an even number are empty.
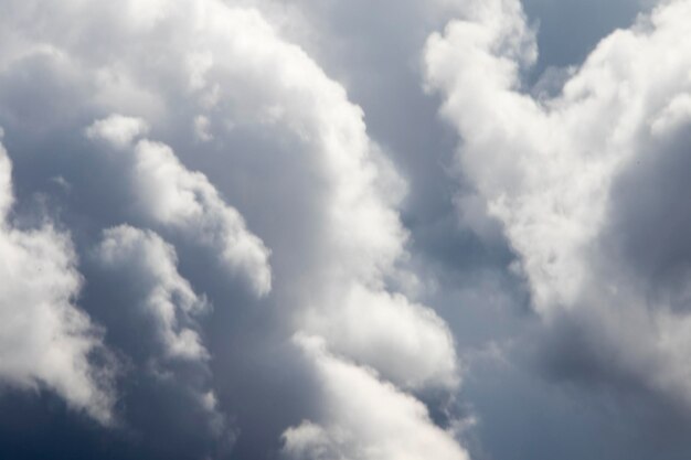
{"type": "Polygon", "coordinates": [[[153,224],[188,234],[194,242],[220,252],[222,261],[247,277],[258,295],[270,290],[269,250],[249,233],[242,215],[226,205],[216,189],[200,172],[191,172],[163,143],[134,137],[146,129],[137,118],[111,116],[87,129],[121,148],[131,161],[128,174],[136,190],[139,214],[153,224]]]}

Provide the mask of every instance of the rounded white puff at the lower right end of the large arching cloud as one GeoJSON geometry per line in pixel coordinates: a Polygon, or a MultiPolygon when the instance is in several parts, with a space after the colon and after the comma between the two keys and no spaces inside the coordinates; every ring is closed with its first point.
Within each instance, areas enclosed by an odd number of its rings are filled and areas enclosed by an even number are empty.
{"type": "Polygon", "coordinates": [[[434,310],[411,303],[402,295],[354,285],[328,318],[308,322],[328,338],[333,350],[363,362],[406,388],[459,384],[454,338],[434,310]]]}

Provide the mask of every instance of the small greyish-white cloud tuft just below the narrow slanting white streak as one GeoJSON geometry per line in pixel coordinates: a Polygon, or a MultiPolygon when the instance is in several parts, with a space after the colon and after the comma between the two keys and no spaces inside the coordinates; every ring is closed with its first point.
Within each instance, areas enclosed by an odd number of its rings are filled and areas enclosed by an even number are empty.
{"type": "MultiPolygon", "coordinates": [[[[138,373],[150,374],[161,385],[178,386],[191,395],[205,416],[212,435],[233,439],[225,415],[220,410],[211,386],[209,360],[212,357],[200,335],[199,319],[211,311],[204,296],[192,289],[178,272],[178,255],[172,245],[152,231],[129,225],[107,228],[93,257],[110,282],[127,287],[128,296],[116,298],[118,315],[126,321],[127,336],[151,333],[153,343],[135,350],[124,347],[140,360],[138,373]],[[190,378],[192,370],[194,377],[190,378]]],[[[115,323],[111,332],[118,332],[115,323]]],[[[189,397],[189,396],[188,396],[189,397]]]]}

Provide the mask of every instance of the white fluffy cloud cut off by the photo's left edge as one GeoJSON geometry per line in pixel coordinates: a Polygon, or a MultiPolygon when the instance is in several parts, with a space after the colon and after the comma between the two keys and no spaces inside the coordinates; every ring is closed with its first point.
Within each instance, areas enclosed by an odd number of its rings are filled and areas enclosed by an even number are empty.
{"type": "Polygon", "coordinates": [[[0,382],[49,388],[70,406],[111,421],[109,367],[102,332],[75,306],[83,278],[70,235],[46,221],[40,228],[13,226],[11,163],[0,146],[0,382]]]}

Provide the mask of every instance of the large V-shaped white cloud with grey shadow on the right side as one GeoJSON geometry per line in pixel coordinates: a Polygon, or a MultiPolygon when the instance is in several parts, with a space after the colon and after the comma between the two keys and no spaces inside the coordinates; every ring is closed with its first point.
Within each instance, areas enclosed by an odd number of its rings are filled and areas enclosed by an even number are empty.
{"type": "Polygon", "coordinates": [[[683,302],[688,261],[670,235],[689,224],[661,210],[681,211],[688,190],[670,167],[682,168],[688,141],[690,15],[689,1],[660,4],[546,98],[523,92],[536,54],[518,1],[482,3],[425,51],[427,83],[463,139],[464,174],[520,256],[535,310],[597,343],[562,351],[607,368],[591,377],[624,376],[687,405],[689,317],[672,304],[683,302]]]}

